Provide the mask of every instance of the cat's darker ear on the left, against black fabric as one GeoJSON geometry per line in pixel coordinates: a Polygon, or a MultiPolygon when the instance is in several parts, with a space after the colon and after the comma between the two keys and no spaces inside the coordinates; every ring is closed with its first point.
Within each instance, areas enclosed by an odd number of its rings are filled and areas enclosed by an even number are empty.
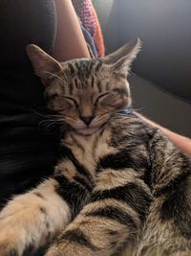
{"type": "Polygon", "coordinates": [[[32,67],[35,75],[40,77],[43,83],[53,79],[53,75],[61,71],[60,63],[50,55],[46,54],[37,45],[28,45],[26,51],[32,61],[32,67]]]}

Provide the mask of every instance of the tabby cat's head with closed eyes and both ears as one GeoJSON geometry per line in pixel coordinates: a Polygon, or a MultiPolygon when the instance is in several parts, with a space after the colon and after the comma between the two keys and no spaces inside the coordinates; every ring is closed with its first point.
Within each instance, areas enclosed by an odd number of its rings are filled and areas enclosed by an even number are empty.
{"type": "Polygon", "coordinates": [[[48,107],[63,115],[81,134],[92,134],[115,112],[131,105],[126,80],[140,41],[124,45],[104,58],[58,62],[36,45],[28,45],[35,74],[45,85],[48,107]]]}

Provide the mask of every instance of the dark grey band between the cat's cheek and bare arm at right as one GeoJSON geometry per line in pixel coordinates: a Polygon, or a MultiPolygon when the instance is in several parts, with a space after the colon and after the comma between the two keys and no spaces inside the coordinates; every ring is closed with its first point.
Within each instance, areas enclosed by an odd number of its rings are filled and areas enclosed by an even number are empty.
{"type": "Polygon", "coordinates": [[[191,104],[136,75],[128,78],[133,105],[160,125],[191,138],[191,104]]]}

